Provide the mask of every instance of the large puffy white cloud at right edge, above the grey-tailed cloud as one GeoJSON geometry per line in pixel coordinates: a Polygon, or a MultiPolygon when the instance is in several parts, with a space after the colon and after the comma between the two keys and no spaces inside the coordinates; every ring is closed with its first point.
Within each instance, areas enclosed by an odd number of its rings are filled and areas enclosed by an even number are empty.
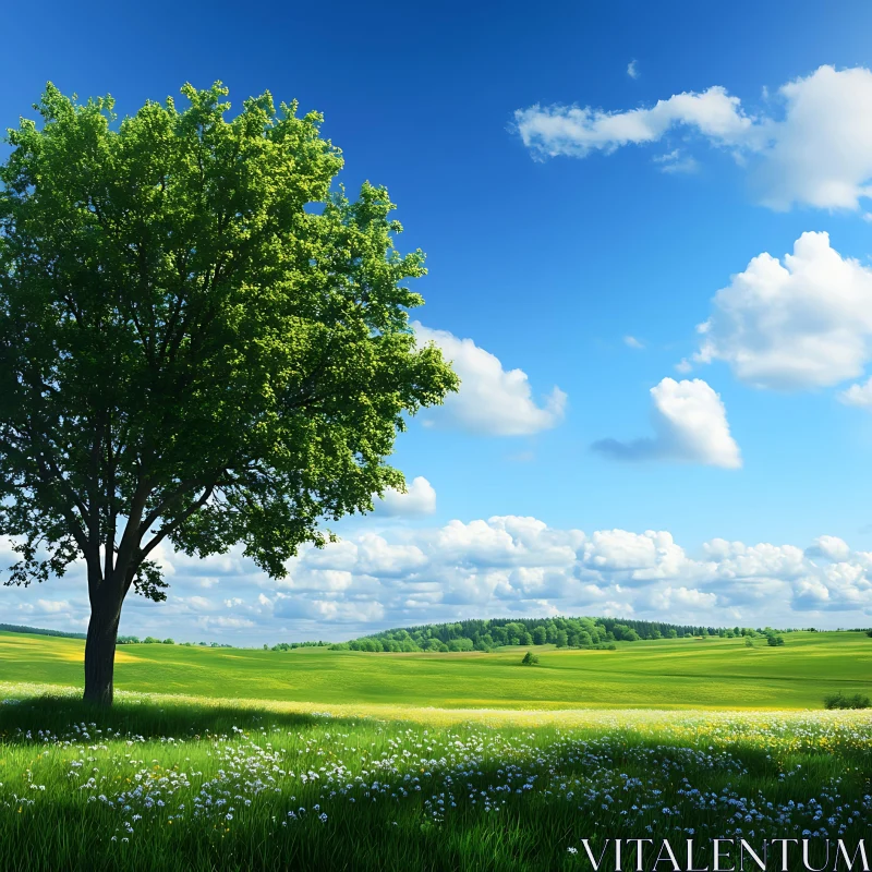
{"type": "MultiPolygon", "coordinates": [[[[763,253],[734,276],[698,330],[694,360],[725,361],[750,385],[790,390],[856,378],[872,353],[872,269],[841,257],[827,233],[803,233],[784,264],[763,253]]],[[[843,401],[862,397],[851,388],[843,401]]]]}

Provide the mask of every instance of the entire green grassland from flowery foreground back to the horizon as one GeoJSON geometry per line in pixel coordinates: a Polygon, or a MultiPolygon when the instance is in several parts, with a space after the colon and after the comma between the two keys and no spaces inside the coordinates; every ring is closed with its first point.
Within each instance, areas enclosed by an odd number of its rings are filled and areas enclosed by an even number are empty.
{"type": "Polygon", "coordinates": [[[131,645],[102,712],[81,641],[2,634],[0,869],[541,872],[592,869],[584,838],[868,839],[872,715],[821,700],[872,691],[872,639],[522,653],[131,645]]]}

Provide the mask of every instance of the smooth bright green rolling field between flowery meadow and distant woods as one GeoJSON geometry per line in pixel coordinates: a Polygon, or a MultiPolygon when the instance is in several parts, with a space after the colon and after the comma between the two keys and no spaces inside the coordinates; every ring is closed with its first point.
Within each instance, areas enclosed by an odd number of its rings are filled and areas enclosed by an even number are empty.
{"type": "MultiPolygon", "coordinates": [[[[368,654],[124,645],[122,690],[323,704],[569,708],[819,708],[835,690],[872,693],[872,639],[795,632],[783,647],[742,639],[661,639],[616,651],[536,646],[484,654],[368,654]]],[[[0,633],[0,681],[77,686],[84,643],[0,633]]]]}

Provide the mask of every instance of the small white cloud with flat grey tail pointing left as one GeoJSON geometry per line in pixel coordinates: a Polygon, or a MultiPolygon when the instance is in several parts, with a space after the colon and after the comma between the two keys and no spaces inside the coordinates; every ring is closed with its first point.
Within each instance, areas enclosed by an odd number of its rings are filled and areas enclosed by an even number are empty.
{"type": "Polygon", "coordinates": [[[741,467],[739,446],[720,396],[700,378],[664,378],[651,389],[653,438],[630,443],[602,439],[593,448],[616,460],[676,460],[711,467],[741,467]]]}

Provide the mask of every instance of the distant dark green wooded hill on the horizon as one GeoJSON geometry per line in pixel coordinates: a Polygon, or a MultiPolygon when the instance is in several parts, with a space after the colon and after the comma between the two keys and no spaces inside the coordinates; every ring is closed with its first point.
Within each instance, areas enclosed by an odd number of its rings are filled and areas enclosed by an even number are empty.
{"type": "MultiPolygon", "coordinates": [[[[332,645],[351,651],[491,651],[502,645],[603,647],[615,642],[683,637],[771,635],[770,627],[703,627],[625,618],[494,618],[428,623],[353,639],[332,645]]],[[[790,632],[784,630],[779,632],[790,632]]]]}

